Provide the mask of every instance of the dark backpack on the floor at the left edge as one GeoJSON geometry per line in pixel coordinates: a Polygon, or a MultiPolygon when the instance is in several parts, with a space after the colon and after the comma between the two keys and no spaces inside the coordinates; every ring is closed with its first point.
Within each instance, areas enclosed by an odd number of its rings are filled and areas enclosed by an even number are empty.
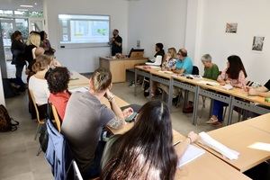
{"type": "Polygon", "coordinates": [[[17,125],[19,125],[19,122],[14,121],[14,119],[8,115],[8,112],[6,111],[4,105],[1,104],[0,105],[0,132],[17,130],[17,125]]]}

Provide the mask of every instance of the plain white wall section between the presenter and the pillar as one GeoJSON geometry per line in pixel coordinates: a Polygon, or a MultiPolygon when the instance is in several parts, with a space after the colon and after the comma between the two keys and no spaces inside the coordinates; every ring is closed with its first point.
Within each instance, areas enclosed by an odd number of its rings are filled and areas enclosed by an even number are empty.
{"type": "MultiPolygon", "coordinates": [[[[145,56],[152,57],[155,44],[184,47],[186,0],[140,0],[129,4],[129,49],[141,40],[145,56]]],[[[165,50],[166,50],[165,49],[165,50]]]]}

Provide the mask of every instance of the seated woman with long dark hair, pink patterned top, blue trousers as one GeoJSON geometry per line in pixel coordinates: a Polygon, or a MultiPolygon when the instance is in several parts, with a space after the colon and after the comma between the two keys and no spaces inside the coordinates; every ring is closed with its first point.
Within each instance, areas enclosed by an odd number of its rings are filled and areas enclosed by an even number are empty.
{"type": "MultiPolygon", "coordinates": [[[[244,88],[246,85],[246,77],[247,73],[241,58],[232,55],[228,58],[227,68],[222,71],[217,80],[220,85],[230,84],[237,88],[244,88]]],[[[223,121],[223,107],[225,105],[227,105],[227,103],[215,100],[213,102],[211,119],[206,121],[206,123],[220,125],[223,121]]]]}

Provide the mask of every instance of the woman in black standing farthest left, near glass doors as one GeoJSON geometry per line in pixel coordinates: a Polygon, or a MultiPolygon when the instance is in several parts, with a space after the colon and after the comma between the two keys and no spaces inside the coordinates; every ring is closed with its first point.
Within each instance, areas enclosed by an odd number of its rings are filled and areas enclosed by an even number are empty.
{"type": "Polygon", "coordinates": [[[12,64],[16,67],[16,84],[20,85],[20,89],[24,91],[25,84],[22,80],[23,67],[26,65],[23,53],[24,53],[24,44],[23,36],[21,31],[14,31],[11,35],[12,46],[11,51],[13,54],[12,64]]]}

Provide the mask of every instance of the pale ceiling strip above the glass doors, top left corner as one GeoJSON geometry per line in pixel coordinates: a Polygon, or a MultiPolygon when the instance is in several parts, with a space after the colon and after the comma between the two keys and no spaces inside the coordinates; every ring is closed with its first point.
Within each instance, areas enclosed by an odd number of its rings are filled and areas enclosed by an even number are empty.
{"type": "Polygon", "coordinates": [[[43,11],[42,0],[0,0],[1,10],[28,9],[29,11],[43,11]],[[20,5],[33,5],[33,7],[21,7],[20,5]]]}

